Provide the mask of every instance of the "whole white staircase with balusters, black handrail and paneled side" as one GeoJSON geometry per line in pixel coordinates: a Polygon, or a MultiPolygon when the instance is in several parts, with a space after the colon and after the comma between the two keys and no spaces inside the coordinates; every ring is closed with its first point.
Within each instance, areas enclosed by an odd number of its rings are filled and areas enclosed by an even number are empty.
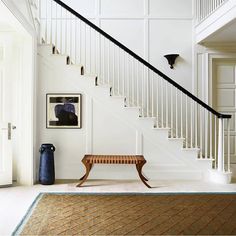
{"type": "MultiPolygon", "coordinates": [[[[85,153],[136,153],[145,156],[144,171],[150,178],[210,179],[213,173],[218,182],[230,182],[230,115],[200,101],[61,1],[40,2],[40,96],[80,92],[85,109],[77,141],[86,148],[76,151],[76,157],[71,151],[71,164],[61,150],[61,178],[65,163],[71,174],[66,178],[77,177],[76,165],[85,153]]],[[[39,114],[44,110],[40,105],[39,114]]],[[[76,132],[70,132],[76,140],[76,132]]],[[[44,130],[39,141],[49,133],[57,139],[57,132],[44,130]]],[[[115,173],[103,168],[100,178],[115,173]]],[[[133,174],[122,171],[124,178],[133,174]]]]}

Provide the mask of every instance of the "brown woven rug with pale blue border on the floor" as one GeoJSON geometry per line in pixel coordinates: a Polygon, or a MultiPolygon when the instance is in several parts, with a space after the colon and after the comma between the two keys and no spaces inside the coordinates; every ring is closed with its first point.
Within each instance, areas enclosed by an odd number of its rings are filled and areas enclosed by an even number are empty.
{"type": "Polygon", "coordinates": [[[18,234],[236,235],[236,194],[40,194],[18,234]]]}

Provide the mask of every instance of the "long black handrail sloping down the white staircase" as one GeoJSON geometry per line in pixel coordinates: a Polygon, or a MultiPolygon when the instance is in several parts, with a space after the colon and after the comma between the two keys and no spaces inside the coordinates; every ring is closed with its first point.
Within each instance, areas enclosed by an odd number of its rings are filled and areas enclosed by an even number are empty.
{"type": "Polygon", "coordinates": [[[89,21],[88,19],[86,19],[85,17],[83,17],[82,15],[80,15],[78,12],[76,12],[75,10],[73,10],[72,8],[70,8],[68,5],[66,5],[65,3],[63,3],[60,0],[53,0],[56,3],[58,3],[59,5],[61,5],[63,8],[65,8],[67,11],[69,11],[71,14],[73,14],[74,16],[78,17],[80,20],[82,20],[83,22],[85,22],[87,25],[89,25],[91,28],[93,28],[94,30],[96,30],[97,32],[99,32],[100,34],[102,34],[105,38],[109,39],[111,42],[113,42],[114,44],[116,44],[118,47],[120,47],[121,49],[123,49],[125,52],[127,52],[128,54],[130,54],[132,57],[134,57],[135,59],[137,59],[139,62],[141,62],[142,64],[144,64],[146,67],[148,67],[150,70],[154,71],[156,74],[158,74],[159,76],[161,76],[163,79],[165,79],[166,81],[168,81],[170,84],[172,84],[173,86],[175,86],[177,89],[179,89],[181,92],[183,92],[184,94],[186,94],[188,97],[192,98],[195,102],[197,102],[198,104],[200,104],[201,106],[203,106],[204,108],[206,108],[208,111],[210,111],[212,114],[216,115],[218,118],[224,118],[224,119],[229,119],[231,118],[231,115],[226,115],[226,114],[221,114],[219,112],[217,112],[216,110],[214,110],[212,107],[208,106],[206,103],[204,103],[203,101],[201,101],[199,98],[197,98],[195,95],[193,95],[192,93],[190,93],[188,90],[186,90],[185,88],[183,88],[181,85],[177,84],[174,80],[172,80],[171,78],[169,78],[167,75],[163,74],[161,71],[159,71],[157,68],[155,68],[154,66],[152,66],[150,63],[148,63],[147,61],[145,61],[143,58],[141,58],[140,56],[138,56],[136,53],[134,53],[133,51],[131,51],[129,48],[127,48],[125,45],[123,45],[122,43],[120,43],[119,41],[117,41],[116,39],[114,39],[112,36],[110,36],[109,34],[107,34],[105,31],[103,31],[101,28],[99,28],[98,26],[96,26],[95,24],[93,24],[91,21],[89,21]]]}

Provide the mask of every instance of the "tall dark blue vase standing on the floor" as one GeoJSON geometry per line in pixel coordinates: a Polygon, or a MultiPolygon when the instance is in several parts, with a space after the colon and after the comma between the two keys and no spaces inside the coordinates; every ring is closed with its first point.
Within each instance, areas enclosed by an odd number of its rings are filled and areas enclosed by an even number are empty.
{"type": "Polygon", "coordinates": [[[54,184],[55,170],[54,170],[54,151],[56,148],[53,144],[42,144],[40,152],[39,164],[39,182],[44,185],[54,184]]]}

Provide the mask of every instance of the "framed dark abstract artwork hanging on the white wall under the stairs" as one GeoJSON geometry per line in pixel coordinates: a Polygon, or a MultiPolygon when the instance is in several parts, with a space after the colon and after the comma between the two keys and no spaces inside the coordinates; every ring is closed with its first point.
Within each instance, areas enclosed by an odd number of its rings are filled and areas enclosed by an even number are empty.
{"type": "Polygon", "coordinates": [[[81,129],[82,95],[74,93],[48,93],[47,128],[81,129]]]}

